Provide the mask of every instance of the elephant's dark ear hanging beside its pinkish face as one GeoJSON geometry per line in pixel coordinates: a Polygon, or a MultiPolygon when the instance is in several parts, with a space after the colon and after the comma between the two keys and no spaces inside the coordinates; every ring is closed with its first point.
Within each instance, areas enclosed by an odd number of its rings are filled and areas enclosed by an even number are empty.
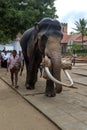
{"type": "Polygon", "coordinates": [[[48,37],[46,35],[41,36],[40,42],[38,43],[41,53],[44,53],[45,51],[47,40],[48,40],[48,37]]]}

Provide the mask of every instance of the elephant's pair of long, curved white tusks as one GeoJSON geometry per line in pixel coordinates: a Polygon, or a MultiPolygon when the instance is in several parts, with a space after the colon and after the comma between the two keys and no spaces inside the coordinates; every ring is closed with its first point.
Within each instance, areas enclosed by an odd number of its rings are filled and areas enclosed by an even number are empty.
{"type": "Polygon", "coordinates": [[[50,73],[48,67],[45,67],[44,69],[45,69],[45,72],[47,73],[48,77],[49,77],[52,81],[54,81],[55,83],[62,84],[62,85],[64,85],[64,86],[66,86],[66,87],[73,87],[73,80],[71,79],[71,77],[70,77],[68,71],[64,70],[65,74],[67,75],[67,77],[68,77],[68,79],[69,79],[69,81],[70,81],[70,84],[65,84],[65,83],[63,83],[63,82],[61,82],[61,81],[55,79],[55,78],[52,76],[52,74],[50,73]]]}

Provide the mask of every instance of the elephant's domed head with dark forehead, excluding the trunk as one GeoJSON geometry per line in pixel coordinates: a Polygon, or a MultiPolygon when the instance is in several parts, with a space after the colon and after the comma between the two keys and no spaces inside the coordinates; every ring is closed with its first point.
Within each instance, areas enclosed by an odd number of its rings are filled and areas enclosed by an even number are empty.
{"type": "Polygon", "coordinates": [[[58,20],[44,18],[35,24],[35,30],[37,30],[38,46],[43,54],[46,53],[46,49],[53,49],[53,46],[58,48],[58,52],[61,53],[60,42],[63,34],[58,20]]]}

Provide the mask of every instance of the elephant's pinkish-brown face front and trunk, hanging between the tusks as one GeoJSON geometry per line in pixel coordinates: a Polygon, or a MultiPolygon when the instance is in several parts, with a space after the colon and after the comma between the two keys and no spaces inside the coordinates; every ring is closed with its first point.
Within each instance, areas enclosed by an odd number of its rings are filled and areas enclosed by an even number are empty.
{"type": "MultiPolygon", "coordinates": [[[[45,54],[51,59],[51,74],[61,81],[61,38],[49,37],[46,45],[45,54]]],[[[56,84],[56,88],[62,88],[61,84],[56,84]]]]}

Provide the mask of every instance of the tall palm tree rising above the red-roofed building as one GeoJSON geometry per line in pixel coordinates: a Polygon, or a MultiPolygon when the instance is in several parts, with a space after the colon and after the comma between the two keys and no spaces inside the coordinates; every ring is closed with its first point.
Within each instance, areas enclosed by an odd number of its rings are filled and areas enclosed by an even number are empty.
{"type": "Polygon", "coordinates": [[[75,31],[77,31],[78,33],[81,33],[82,35],[82,47],[83,47],[83,38],[87,33],[87,20],[83,19],[79,19],[79,22],[76,21],[75,22],[76,28],[73,28],[75,31]]]}

